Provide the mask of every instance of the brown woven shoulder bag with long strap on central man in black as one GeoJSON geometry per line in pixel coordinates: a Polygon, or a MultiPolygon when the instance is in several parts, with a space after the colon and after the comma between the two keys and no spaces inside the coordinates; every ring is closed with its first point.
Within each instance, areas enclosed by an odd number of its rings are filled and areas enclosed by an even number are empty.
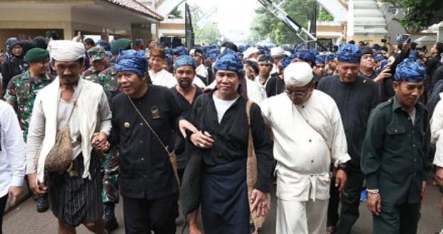
{"type": "MultiPolygon", "coordinates": [[[[251,197],[253,187],[256,185],[257,182],[257,157],[256,152],[254,150],[253,140],[252,140],[252,131],[251,131],[251,105],[253,104],[252,101],[246,102],[246,116],[248,118],[248,126],[249,126],[249,133],[248,133],[248,159],[246,160],[246,184],[248,186],[248,198],[251,197]]],[[[249,200],[249,199],[248,199],[249,200]]],[[[266,203],[268,206],[270,206],[270,194],[266,194],[266,203]]],[[[251,203],[249,203],[249,206],[251,208],[251,203]]],[[[254,233],[258,233],[258,229],[263,226],[263,223],[265,222],[266,216],[257,216],[255,212],[251,212],[251,221],[254,225],[254,233]]]]}

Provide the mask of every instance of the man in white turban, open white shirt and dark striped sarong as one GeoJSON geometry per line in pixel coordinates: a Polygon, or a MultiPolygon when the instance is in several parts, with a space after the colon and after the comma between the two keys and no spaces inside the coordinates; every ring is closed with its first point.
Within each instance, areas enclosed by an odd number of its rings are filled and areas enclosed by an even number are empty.
{"type": "Polygon", "coordinates": [[[80,224],[93,233],[106,233],[102,174],[96,153],[109,149],[111,111],[106,94],[99,84],[80,77],[83,43],[53,40],[48,50],[58,76],[35,98],[26,152],[29,185],[35,194],[49,192],[59,233],[75,233],[80,224]],[[69,128],[68,145],[72,145],[71,165],[45,176],[46,157],[53,150],[57,133],[65,132],[65,126],[69,128]]]}

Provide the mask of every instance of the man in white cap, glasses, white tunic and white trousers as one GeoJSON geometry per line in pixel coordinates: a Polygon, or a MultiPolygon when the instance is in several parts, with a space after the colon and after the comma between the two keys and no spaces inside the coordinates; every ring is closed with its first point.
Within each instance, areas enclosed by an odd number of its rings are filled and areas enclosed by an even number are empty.
{"type": "Polygon", "coordinates": [[[334,100],[314,90],[310,65],[295,62],[284,72],[285,93],[259,104],[275,137],[275,233],[324,233],[331,160],[338,168],[335,186],[347,179],[344,129],[334,100]]]}

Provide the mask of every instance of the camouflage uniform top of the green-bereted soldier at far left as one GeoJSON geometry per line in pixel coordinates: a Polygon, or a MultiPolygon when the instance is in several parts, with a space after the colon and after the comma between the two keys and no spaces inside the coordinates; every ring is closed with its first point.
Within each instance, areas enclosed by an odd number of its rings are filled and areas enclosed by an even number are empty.
{"type": "Polygon", "coordinates": [[[20,121],[25,142],[28,138],[28,128],[31,122],[35,96],[37,96],[40,89],[53,82],[53,79],[48,74],[44,78],[31,77],[29,71],[26,71],[16,75],[9,82],[4,99],[13,102],[17,106],[18,121],[20,121]]]}

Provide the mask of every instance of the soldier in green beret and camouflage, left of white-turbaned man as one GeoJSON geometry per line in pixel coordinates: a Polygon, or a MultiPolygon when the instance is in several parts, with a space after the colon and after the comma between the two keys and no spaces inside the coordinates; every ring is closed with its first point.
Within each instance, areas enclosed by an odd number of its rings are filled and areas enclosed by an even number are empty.
{"type": "MultiPolygon", "coordinates": [[[[18,121],[23,130],[23,139],[28,138],[28,128],[31,122],[35,96],[38,91],[53,82],[54,77],[48,74],[49,53],[48,50],[33,48],[26,52],[24,57],[28,62],[29,69],[11,79],[6,89],[4,99],[7,103],[16,107],[18,121]]],[[[45,212],[49,208],[48,198],[45,194],[37,196],[37,211],[45,212]]]]}

